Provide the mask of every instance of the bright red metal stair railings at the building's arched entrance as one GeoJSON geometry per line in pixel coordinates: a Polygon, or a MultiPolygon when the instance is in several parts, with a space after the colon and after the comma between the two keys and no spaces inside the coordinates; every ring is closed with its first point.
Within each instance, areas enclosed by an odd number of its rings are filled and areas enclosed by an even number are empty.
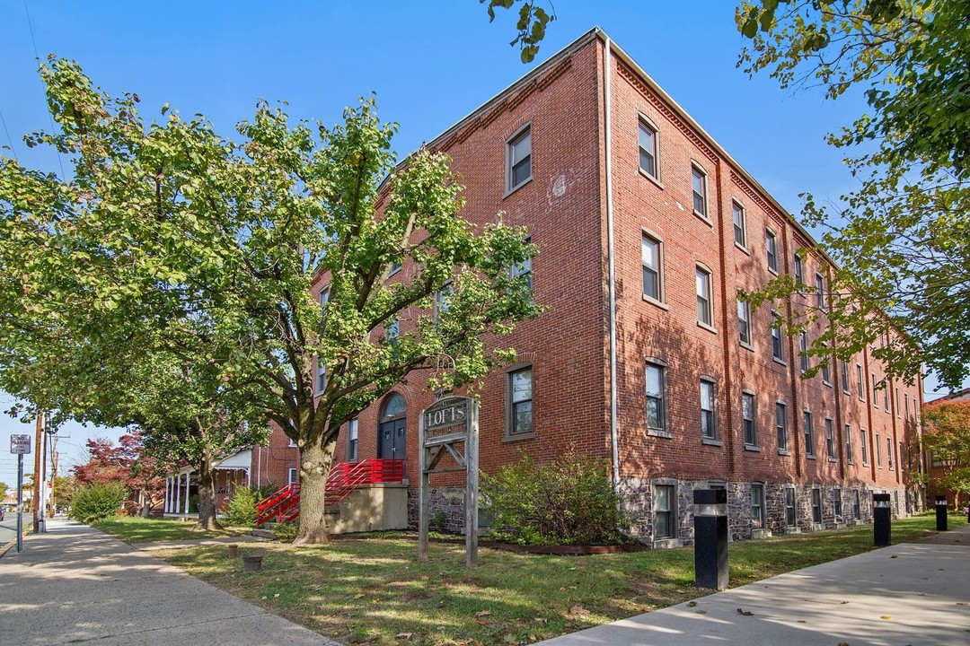
{"type": "MultiPolygon", "coordinates": [[[[370,458],[361,462],[340,462],[330,470],[324,505],[331,507],[349,496],[354,489],[383,482],[404,481],[404,460],[370,458]]],[[[268,520],[285,523],[300,516],[300,485],[288,484],[267,496],[256,506],[256,527],[268,520]]]]}

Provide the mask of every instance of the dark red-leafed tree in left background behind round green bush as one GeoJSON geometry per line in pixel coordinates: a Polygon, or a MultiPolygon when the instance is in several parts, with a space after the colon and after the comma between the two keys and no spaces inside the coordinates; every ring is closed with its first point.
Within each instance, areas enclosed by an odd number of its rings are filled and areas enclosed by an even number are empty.
{"type": "Polygon", "coordinates": [[[157,459],[146,453],[139,431],[122,435],[118,438],[118,446],[104,438],[88,440],[87,452],[87,463],[74,468],[78,484],[121,482],[129,491],[129,499],[140,504],[143,515],[163,500],[164,469],[157,459]]]}

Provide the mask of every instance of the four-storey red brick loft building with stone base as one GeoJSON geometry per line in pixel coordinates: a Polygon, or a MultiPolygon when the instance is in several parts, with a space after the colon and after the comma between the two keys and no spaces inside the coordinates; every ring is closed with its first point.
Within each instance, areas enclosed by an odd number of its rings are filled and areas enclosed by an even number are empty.
{"type": "MultiPolygon", "coordinates": [[[[735,539],[868,521],[874,491],[897,514],[922,508],[908,481],[921,384],[883,387],[869,352],[800,378],[801,340],[737,293],[790,273],[805,291],[786,307],[824,308],[830,262],[796,257],[808,233],[602,31],[428,146],[462,175],[463,217],[528,227],[539,255],[518,270],[549,308],[518,326],[518,363],[480,390],[483,471],[520,451],[604,458],[634,533],[658,546],[692,540],[697,487],[727,489],[735,539]]],[[[403,458],[412,507],[418,414],[434,401],[424,377],[342,429],[336,456],[403,458]]],[[[280,438],[263,449],[263,483],[297,466],[280,438]]],[[[462,478],[432,481],[452,529],[462,478]]]]}

